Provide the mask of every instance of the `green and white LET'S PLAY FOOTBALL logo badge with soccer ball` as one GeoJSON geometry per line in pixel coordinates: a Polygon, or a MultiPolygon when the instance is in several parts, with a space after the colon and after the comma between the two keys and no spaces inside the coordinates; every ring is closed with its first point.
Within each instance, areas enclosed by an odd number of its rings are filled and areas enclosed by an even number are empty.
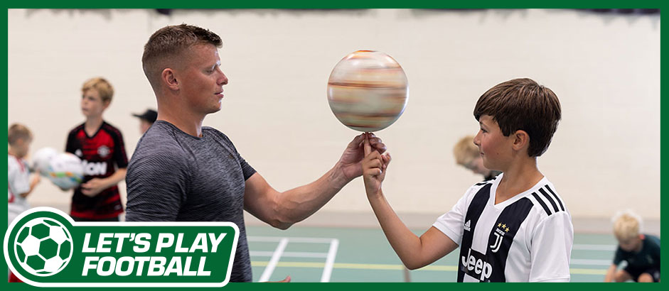
{"type": "Polygon", "coordinates": [[[221,287],[238,238],[230,222],[75,222],[37,207],[12,221],[4,256],[39,287],[221,287]]]}

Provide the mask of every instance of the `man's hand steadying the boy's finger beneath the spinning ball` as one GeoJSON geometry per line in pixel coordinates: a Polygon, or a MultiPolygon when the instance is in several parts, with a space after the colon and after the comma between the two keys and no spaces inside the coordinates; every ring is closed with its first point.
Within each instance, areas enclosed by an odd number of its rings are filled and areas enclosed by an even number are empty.
{"type": "Polygon", "coordinates": [[[365,158],[365,150],[363,148],[365,139],[368,139],[370,151],[374,150],[379,154],[385,153],[385,144],[383,144],[381,139],[376,137],[374,133],[363,133],[360,134],[360,136],[355,136],[353,141],[348,143],[346,150],[344,150],[344,153],[341,155],[338,162],[339,168],[346,178],[346,182],[363,175],[361,162],[363,158],[365,158]],[[368,135],[367,138],[365,138],[366,135],[368,135]]]}

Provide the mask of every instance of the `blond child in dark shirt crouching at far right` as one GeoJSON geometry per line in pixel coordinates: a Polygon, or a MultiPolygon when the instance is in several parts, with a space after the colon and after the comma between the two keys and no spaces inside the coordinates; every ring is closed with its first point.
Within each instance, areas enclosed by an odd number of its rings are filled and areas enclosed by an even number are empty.
{"type": "Polygon", "coordinates": [[[614,217],[619,246],[604,282],[660,282],[660,238],[641,234],[642,222],[641,216],[631,211],[614,217]],[[618,270],[623,261],[627,265],[618,270]]]}

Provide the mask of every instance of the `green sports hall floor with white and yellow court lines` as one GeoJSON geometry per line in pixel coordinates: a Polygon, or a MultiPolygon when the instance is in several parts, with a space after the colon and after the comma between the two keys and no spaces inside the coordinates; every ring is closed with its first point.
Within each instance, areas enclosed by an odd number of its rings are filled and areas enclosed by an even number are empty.
{"type": "MultiPolygon", "coordinates": [[[[424,230],[414,230],[422,234],[424,230]]],[[[253,281],[405,282],[400,259],[380,229],[292,226],[287,231],[247,226],[253,281]]],[[[616,240],[574,234],[572,282],[601,282],[616,240]]],[[[458,250],[427,267],[408,271],[410,282],[455,282],[458,250]]]]}

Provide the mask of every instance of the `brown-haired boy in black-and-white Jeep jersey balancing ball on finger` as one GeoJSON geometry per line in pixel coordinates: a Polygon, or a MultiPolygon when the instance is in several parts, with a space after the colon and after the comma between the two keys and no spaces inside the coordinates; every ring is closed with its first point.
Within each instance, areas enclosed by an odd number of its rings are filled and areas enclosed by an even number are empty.
{"type": "Polygon", "coordinates": [[[460,247],[458,282],[568,282],[571,215],[537,168],[560,121],[560,101],[532,79],[512,79],[484,93],[473,115],[483,165],[503,173],[470,187],[420,237],[383,195],[390,155],[368,150],[365,141],[365,191],[390,245],[410,269],[460,247]]]}

